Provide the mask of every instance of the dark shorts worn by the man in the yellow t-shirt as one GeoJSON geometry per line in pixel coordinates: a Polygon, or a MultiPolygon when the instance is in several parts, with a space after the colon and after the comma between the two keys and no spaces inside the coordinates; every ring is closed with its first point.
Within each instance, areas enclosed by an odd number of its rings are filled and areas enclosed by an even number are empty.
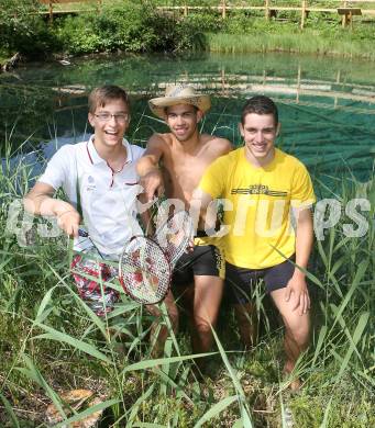
{"type": "Polygon", "coordinates": [[[225,263],[225,293],[231,304],[244,304],[251,302],[252,288],[263,280],[267,293],[287,286],[295,272],[295,256],[283,263],[264,269],[239,268],[225,263]]]}

